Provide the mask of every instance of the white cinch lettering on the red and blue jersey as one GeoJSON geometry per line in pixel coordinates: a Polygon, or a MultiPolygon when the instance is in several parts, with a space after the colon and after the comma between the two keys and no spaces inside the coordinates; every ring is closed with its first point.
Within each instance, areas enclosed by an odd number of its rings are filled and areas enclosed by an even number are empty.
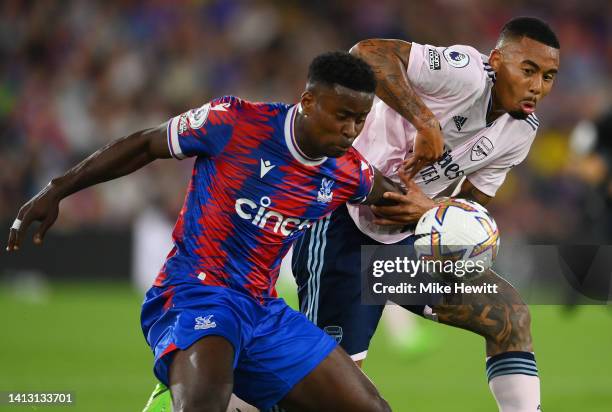
{"type": "Polygon", "coordinates": [[[269,210],[268,207],[272,201],[268,196],[264,196],[259,200],[259,204],[251,199],[240,198],[236,199],[236,213],[238,216],[261,229],[267,224],[274,225],[272,230],[274,233],[280,233],[283,236],[289,236],[295,231],[310,227],[310,220],[301,220],[295,217],[285,217],[281,213],[269,210]]]}

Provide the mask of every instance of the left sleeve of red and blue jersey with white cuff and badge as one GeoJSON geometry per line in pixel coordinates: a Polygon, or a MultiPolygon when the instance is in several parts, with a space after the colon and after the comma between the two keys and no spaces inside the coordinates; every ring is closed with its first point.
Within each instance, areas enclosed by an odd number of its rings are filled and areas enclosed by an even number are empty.
{"type": "Polygon", "coordinates": [[[221,153],[232,136],[240,104],[240,99],[225,96],[170,119],[167,135],[172,157],[214,157],[221,153]]]}

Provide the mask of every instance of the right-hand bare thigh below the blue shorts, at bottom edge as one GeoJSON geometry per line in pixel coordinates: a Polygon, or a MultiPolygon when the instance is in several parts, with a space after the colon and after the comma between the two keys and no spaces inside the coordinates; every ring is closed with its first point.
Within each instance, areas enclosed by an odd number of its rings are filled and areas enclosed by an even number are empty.
{"type": "Polygon", "coordinates": [[[339,347],[295,385],[280,405],[290,411],[388,410],[374,384],[339,347]]]}

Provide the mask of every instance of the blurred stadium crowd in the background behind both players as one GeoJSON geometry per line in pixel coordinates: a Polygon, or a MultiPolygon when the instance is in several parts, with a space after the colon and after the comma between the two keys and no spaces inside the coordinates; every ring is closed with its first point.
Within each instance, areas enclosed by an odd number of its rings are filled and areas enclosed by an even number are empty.
{"type": "MultiPolygon", "coordinates": [[[[608,0],[8,0],[0,11],[6,227],[51,177],[114,138],[214,96],[296,101],[319,52],[396,37],[488,54],[506,20],[535,15],[559,35],[561,70],[528,160],[491,209],[505,236],[610,243],[610,121],[597,123],[612,103],[608,0]]],[[[190,166],[158,162],[72,196],[55,230],[121,227],[147,205],[173,216],[190,166]]]]}

